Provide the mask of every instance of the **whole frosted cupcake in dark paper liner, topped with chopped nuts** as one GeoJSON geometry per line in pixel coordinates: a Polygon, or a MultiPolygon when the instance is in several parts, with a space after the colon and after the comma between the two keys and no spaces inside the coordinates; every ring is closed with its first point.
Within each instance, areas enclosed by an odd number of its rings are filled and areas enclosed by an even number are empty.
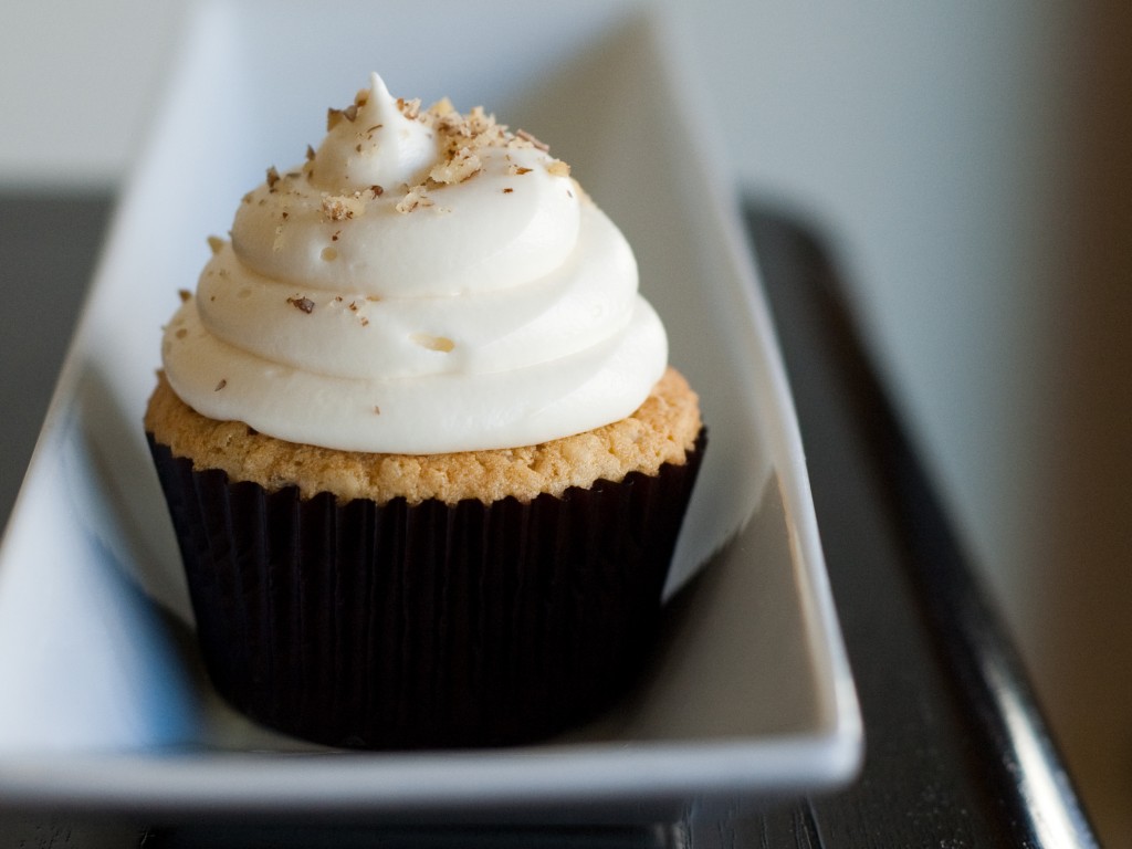
{"type": "Polygon", "coordinates": [[[607,707],[653,640],[704,431],[568,165],[374,75],[209,243],[145,428],[220,694],[368,748],[607,707]]]}

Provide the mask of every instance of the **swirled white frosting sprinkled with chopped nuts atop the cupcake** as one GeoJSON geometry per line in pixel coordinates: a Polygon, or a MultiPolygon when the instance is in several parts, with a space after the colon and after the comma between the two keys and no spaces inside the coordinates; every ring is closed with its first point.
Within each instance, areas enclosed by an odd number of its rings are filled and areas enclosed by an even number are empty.
{"type": "Polygon", "coordinates": [[[345,451],[532,445],[632,413],[667,362],[620,231],[538,143],[374,75],[249,192],[165,329],[213,419],[345,451]]]}

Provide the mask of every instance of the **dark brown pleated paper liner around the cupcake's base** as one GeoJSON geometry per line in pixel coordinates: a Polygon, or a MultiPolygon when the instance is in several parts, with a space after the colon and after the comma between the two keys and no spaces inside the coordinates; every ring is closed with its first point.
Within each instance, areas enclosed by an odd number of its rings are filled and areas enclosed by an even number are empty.
{"type": "Polygon", "coordinates": [[[216,689],[332,746],[534,740],[615,700],[652,644],[702,456],[529,504],[299,497],[149,445],[216,689]]]}

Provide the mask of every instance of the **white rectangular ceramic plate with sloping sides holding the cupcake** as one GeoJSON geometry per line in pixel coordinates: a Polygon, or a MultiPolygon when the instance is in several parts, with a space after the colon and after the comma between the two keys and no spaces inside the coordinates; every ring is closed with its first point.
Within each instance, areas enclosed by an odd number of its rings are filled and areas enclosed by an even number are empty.
{"type": "Polygon", "coordinates": [[[703,98],[663,20],[619,5],[204,3],[112,228],[0,550],[0,806],[620,821],[838,786],[861,753],[797,421],[703,98]],[[329,10],[327,10],[329,9],[329,10]],[[474,33],[474,37],[470,36],[474,33]],[[543,745],[344,754],[218,703],[142,412],[160,333],[267,165],[378,70],[483,103],[625,230],[710,446],[653,668],[543,745]]]}

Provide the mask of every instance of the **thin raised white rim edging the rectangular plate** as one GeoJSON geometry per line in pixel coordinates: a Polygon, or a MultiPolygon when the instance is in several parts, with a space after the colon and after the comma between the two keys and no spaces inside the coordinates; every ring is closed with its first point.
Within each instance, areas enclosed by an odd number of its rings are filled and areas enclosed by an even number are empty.
{"type": "MultiPolygon", "coordinates": [[[[198,3],[192,10],[191,24],[200,25],[200,20],[211,14],[213,2],[198,3]]],[[[655,7],[636,11],[644,25],[649,27],[654,49],[667,51],[669,55],[679,57],[678,37],[670,14],[655,7]]],[[[190,32],[192,26],[189,27],[190,32]]],[[[695,91],[697,77],[694,66],[685,62],[677,69],[672,63],[662,63],[668,71],[666,91],[676,93],[676,97],[686,97],[695,91]]],[[[701,88],[702,91],[702,88],[701,88]]],[[[693,128],[684,112],[678,112],[679,131],[692,138],[693,128]]],[[[160,120],[160,117],[158,117],[160,120]]],[[[524,808],[561,808],[563,806],[601,807],[617,803],[651,800],[667,805],[677,800],[687,800],[689,790],[695,790],[697,798],[762,795],[789,790],[831,789],[847,783],[860,767],[864,749],[864,731],[856,688],[849,668],[848,657],[840,634],[837,611],[833,606],[829,576],[825,569],[824,552],[814,512],[813,497],[809,489],[809,478],[806,471],[801,437],[794,408],[784,365],[781,360],[777,333],[770,317],[769,307],[762,295],[761,282],[755,271],[755,263],[747,240],[741,232],[738,204],[732,192],[728,191],[727,181],[712,169],[710,163],[726,161],[718,153],[723,146],[714,138],[711,128],[696,126],[697,144],[709,149],[705,156],[693,157],[694,165],[702,169],[702,182],[711,196],[706,204],[715,220],[712,222],[719,229],[723,247],[728,252],[727,261],[734,265],[736,274],[744,285],[739,297],[758,328],[758,346],[763,365],[767,371],[767,387],[773,395],[773,402],[783,415],[772,417],[772,427],[767,435],[772,441],[771,456],[781,461],[784,468],[778,468],[777,486],[780,489],[791,531],[791,544],[796,554],[796,571],[800,573],[806,586],[799,590],[805,604],[812,606],[805,617],[811,628],[820,633],[813,635],[812,645],[824,650],[821,658],[824,679],[827,681],[827,703],[821,711],[822,721],[814,732],[797,735],[779,735],[773,738],[726,739],[674,744],[671,741],[640,743],[628,748],[615,748],[608,745],[572,744],[566,746],[529,747],[517,752],[500,753],[498,751],[474,753],[426,753],[414,755],[391,755],[387,753],[358,756],[344,761],[337,755],[256,754],[226,753],[209,751],[207,753],[165,753],[158,755],[130,753],[105,753],[83,755],[28,755],[0,754],[0,809],[11,805],[27,807],[52,807],[65,805],[68,809],[114,809],[134,811],[190,811],[195,808],[211,812],[248,811],[268,807],[277,811],[281,804],[315,803],[319,811],[348,809],[354,813],[370,815],[389,815],[403,811],[408,804],[417,811],[430,812],[462,811],[469,807],[489,812],[495,807],[517,805],[524,808]],[[669,764],[672,758],[681,762],[695,761],[709,756],[714,764],[714,772],[705,772],[702,761],[698,773],[694,777],[677,777],[671,770],[658,769],[669,764]],[[775,775],[766,764],[775,756],[789,756],[800,767],[792,773],[791,780],[783,781],[775,775]],[[281,757],[288,758],[286,781],[272,781],[280,772],[281,757]],[[332,760],[333,758],[333,760],[332,760]],[[435,783],[427,792],[419,790],[409,794],[405,790],[383,787],[376,792],[381,781],[393,775],[417,774],[420,770],[432,770],[437,758],[443,760],[445,771],[464,775],[464,786],[449,784],[448,789],[435,783]],[[769,760],[767,760],[769,758],[769,760]],[[288,787],[293,792],[306,779],[325,777],[327,764],[336,773],[349,772],[367,779],[357,797],[324,798],[299,792],[289,796],[288,787]],[[344,764],[348,764],[344,766],[344,764]],[[532,767],[532,764],[535,764],[532,767]],[[218,795],[211,792],[208,778],[215,779],[216,766],[223,767],[224,787],[229,784],[255,784],[251,792],[218,795]],[[480,795],[469,795],[466,775],[490,767],[497,774],[504,774],[513,782],[511,790],[483,789],[480,795]],[[592,778],[588,781],[561,783],[561,770],[566,769],[576,775],[594,772],[602,774],[600,782],[592,778]],[[501,770],[501,772],[500,772],[501,770]],[[532,781],[532,778],[543,777],[555,772],[554,784],[532,781]],[[117,781],[106,781],[110,775],[117,781]],[[299,781],[294,780],[298,775],[299,781]],[[633,781],[624,781],[624,777],[633,777],[633,781]],[[620,780],[618,781],[618,777],[620,780]],[[239,780],[237,780],[239,779],[239,780]],[[131,790],[132,788],[132,790],[131,790]],[[148,788],[148,792],[138,792],[148,788]],[[458,791],[457,791],[458,790],[458,791]],[[489,791],[490,790],[490,791],[489,791]],[[289,800],[289,801],[288,801],[289,800]]],[[[128,183],[122,194],[122,200],[115,209],[111,226],[111,239],[125,217],[123,207],[129,204],[132,187],[128,183]]],[[[109,251],[104,251],[94,280],[102,276],[102,268],[109,261],[109,251]]],[[[19,501],[27,481],[43,465],[41,454],[48,451],[50,436],[60,426],[60,418],[67,412],[68,393],[74,393],[77,379],[77,351],[80,348],[82,335],[88,324],[89,306],[95,295],[95,286],[86,293],[86,301],[80,310],[75,335],[68,349],[59,380],[55,386],[49,412],[45,417],[40,439],[33,453],[20,497],[17,498],[11,520],[5,532],[5,543],[0,544],[0,591],[3,588],[3,561],[6,559],[9,532],[18,521],[19,501]]],[[[770,486],[775,486],[772,482],[770,486]]],[[[333,783],[333,782],[332,782],[333,783]]],[[[506,782],[504,782],[506,783],[506,782]]]]}

